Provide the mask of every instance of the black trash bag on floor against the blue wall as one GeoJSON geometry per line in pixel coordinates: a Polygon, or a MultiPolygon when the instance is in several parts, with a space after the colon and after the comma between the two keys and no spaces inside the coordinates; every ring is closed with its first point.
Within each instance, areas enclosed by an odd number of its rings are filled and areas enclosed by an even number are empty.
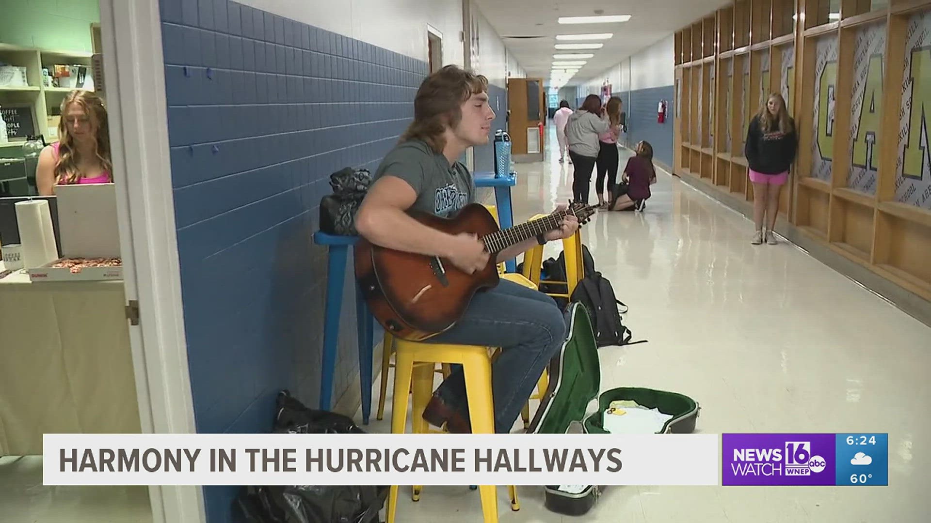
{"type": "MultiPolygon", "coordinates": [[[[282,391],[277,397],[276,434],[367,434],[351,418],[308,409],[282,391]]],[[[249,523],[379,523],[387,486],[245,487],[236,506],[249,523]]]]}

